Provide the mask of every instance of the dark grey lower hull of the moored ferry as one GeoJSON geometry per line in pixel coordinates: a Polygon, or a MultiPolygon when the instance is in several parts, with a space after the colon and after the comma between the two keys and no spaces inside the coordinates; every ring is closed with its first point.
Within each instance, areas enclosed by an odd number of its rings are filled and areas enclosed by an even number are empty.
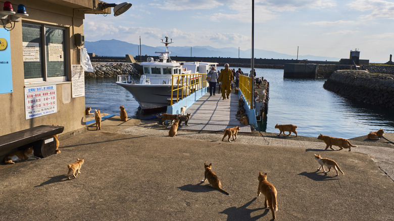
{"type": "MultiPolygon", "coordinates": [[[[167,107],[171,98],[171,85],[169,84],[127,84],[121,82],[116,82],[116,84],[128,90],[144,112],[167,107]]],[[[174,94],[174,99],[176,99],[176,94],[174,94]]]]}

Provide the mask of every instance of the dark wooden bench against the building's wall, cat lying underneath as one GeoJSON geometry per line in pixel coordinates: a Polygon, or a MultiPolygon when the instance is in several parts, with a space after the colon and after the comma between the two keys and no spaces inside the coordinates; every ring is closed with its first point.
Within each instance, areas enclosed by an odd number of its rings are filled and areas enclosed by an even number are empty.
{"type": "Polygon", "coordinates": [[[33,146],[34,155],[47,157],[55,154],[56,140],[53,135],[60,134],[63,126],[41,125],[26,130],[0,136],[0,162],[13,151],[33,146]]]}

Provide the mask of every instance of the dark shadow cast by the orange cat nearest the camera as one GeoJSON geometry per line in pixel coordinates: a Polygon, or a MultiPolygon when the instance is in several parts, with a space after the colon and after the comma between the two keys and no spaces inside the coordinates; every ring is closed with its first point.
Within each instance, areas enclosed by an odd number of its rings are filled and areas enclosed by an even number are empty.
{"type": "MultiPolygon", "coordinates": [[[[264,198],[264,196],[263,196],[264,198]]],[[[219,213],[223,213],[227,215],[227,220],[258,220],[259,218],[265,216],[268,211],[270,211],[268,208],[264,209],[264,208],[256,208],[256,209],[248,209],[247,207],[250,206],[255,200],[257,199],[257,197],[253,198],[251,201],[243,204],[240,207],[229,207],[219,213]],[[256,215],[252,217],[252,212],[255,212],[257,210],[261,210],[264,209],[264,212],[260,215],[256,215]]]]}

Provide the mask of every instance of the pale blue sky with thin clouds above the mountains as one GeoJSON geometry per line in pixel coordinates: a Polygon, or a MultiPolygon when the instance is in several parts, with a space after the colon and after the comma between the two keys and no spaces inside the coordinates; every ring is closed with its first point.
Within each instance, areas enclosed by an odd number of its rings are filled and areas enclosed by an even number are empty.
{"type": "MultiPolygon", "coordinates": [[[[122,3],[118,1],[107,3],[122,3]]],[[[255,0],[254,48],[294,55],[385,63],[394,53],[393,0],[255,0]]],[[[252,45],[252,1],[130,1],[124,14],[85,15],[85,41],[117,39],[133,44],[235,47],[252,45]]],[[[171,49],[170,49],[171,50],[171,49]]],[[[137,53],[137,52],[132,52],[137,53]]],[[[237,58],[238,49],[228,57],[237,58]]]]}

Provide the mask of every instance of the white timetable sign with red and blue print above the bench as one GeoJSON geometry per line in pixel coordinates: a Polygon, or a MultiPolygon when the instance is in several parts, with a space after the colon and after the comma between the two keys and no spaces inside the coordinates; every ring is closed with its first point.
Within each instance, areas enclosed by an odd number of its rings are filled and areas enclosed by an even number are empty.
{"type": "Polygon", "coordinates": [[[56,85],[25,87],[26,120],[58,112],[56,85]]]}

